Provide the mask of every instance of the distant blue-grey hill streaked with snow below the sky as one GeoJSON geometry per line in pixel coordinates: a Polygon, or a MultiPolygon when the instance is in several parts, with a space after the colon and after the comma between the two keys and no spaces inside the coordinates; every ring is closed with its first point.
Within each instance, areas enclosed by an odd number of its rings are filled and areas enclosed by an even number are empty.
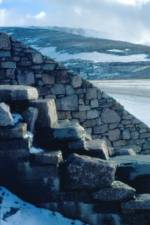
{"type": "MultiPolygon", "coordinates": [[[[65,27],[2,27],[27,45],[87,79],[150,78],[150,46],[94,38],[65,27]]],[[[94,31],[93,31],[94,32],[94,31]]]]}

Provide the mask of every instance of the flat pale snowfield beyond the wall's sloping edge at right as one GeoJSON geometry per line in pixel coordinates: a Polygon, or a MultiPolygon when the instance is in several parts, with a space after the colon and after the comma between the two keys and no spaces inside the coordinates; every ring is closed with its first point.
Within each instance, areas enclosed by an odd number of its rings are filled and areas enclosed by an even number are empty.
{"type": "Polygon", "coordinates": [[[150,80],[93,81],[150,127],[150,80]]]}

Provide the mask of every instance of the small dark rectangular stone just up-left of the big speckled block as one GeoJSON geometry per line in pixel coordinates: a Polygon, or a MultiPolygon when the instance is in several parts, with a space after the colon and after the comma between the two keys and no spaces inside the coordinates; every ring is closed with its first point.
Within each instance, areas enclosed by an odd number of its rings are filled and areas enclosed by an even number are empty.
{"type": "Polygon", "coordinates": [[[55,165],[58,166],[63,162],[62,152],[61,151],[51,151],[51,152],[42,152],[32,154],[32,163],[38,165],[55,165]]]}

